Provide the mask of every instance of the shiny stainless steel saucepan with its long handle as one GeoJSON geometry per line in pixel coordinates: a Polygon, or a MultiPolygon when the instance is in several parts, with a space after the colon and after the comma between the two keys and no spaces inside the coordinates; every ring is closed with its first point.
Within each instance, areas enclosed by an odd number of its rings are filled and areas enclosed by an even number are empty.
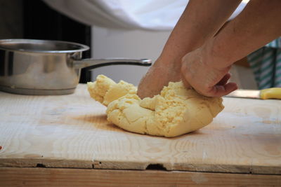
{"type": "Polygon", "coordinates": [[[0,40],[0,90],[24,95],[64,95],[74,92],[83,67],[151,65],[147,59],[82,60],[84,50],[89,47],[66,41],[0,40]]]}

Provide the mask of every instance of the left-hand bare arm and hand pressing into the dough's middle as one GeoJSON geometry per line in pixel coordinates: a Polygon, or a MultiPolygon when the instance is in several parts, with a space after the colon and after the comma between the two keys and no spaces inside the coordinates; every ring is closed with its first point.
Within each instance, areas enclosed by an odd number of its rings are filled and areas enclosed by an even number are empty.
{"type": "Polygon", "coordinates": [[[181,58],[213,37],[241,0],[190,0],[162,54],[138,85],[138,95],[153,97],[169,81],[181,79],[181,58]]]}

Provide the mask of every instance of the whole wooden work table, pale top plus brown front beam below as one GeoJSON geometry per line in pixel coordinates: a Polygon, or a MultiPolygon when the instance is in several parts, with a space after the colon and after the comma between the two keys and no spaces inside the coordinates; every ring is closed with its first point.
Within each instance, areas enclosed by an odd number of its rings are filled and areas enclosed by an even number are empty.
{"type": "Polygon", "coordinates": [[[175,138],[108,123],[86,85],[0,103],[0,186],[281,186],[280,100],[224,98],[213,123],[175,138]]]}

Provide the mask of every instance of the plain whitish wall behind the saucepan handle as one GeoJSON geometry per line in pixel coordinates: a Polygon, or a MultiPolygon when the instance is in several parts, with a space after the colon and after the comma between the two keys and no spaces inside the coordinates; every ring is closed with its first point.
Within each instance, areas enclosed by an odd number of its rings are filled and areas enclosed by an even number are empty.
{"type": "MultiPolygon", "coordinates": [[[[162,51],[170,32],[127,31],[92,27],[92,57],[149,58],[153,62],[162,51]]],[[[138,85],[148,67],[116,65],[93,70],[92,77],[104,74],[114,81],[124,80],[138,85]]]]}

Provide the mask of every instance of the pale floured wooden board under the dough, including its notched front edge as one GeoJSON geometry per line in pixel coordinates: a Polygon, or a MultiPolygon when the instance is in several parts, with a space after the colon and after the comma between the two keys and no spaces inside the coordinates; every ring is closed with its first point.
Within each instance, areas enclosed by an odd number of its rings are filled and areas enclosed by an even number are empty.
{"type": "Polygon", "coordinates": [[[72,167],[281,174],[281,101],[224,98],[207,127],[175,138],[126,132],[105,106],[75,94],[0,92],[0,167],[72,167]]]}

